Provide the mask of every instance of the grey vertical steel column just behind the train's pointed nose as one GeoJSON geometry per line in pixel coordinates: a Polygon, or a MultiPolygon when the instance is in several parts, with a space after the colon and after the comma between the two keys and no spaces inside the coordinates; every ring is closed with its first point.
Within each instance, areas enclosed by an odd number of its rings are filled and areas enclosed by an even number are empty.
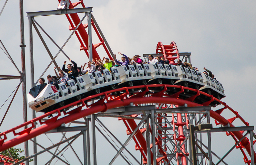
{"type": "MultiPolygon", "coordinates": [[[[32,19],[33,17],[29,17],[29,52],[30,52],[30,76],[31,76],[31,88],[35,86],[34,84],[34,53],[33,53],[33,33],[32,33],[32,19]]],[[[35,111],[32,110],[32,118],[35,118],[35,111]]],[[[36,125],[36,124],[35,124],[36,125]]],[[[37,153],[37,138],[34,137],[33,141],[33,153],[37,153]]],[[[37,165],[37,156],[34,157],[34,165],[37,165]]]]}

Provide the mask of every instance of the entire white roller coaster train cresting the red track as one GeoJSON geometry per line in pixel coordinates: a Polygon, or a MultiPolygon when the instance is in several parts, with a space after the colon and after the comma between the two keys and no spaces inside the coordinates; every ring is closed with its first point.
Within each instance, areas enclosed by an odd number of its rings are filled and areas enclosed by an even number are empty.
{"type": "MultiPolygon", "coordinates": [[[[111,67],[108,69],[95,71],[80,75],[76,81],[71,79],[65,83],[59,83],[57,87],[53,85],[38,85],[33,87],[27,99],[29,107],[35,111],[47,113],[64,105],[86,98],[92,94],[99,94],[109,89],[114,90],[116,87],[146,85],[147,83],[158,83],[170,85],[183,85],[193,89],[199,89],[215,98],[222,99],[225,97],[223,86],[220,82],[201,74],[195,70],[174,66],[172,64],[136,64],[128,66],[111,67]]],[[[150,87],[154,92],[162,90],[163,87],[150,87]]],[[[134,92],[133,89],[131,89],[134,92]]],[[[139,89],[138,89],[139,90],[139,89]]],[[[166,93],[172,95],[180,91],[180,88],[167,87],[166,93]]],[[[196,94],[196,91],[185,89],[179,97],[186,99],[196,94]]],[[[99,96],[100,97],[100,96],[99,96]]],[[[204,95],[198,96],[194,102],[204,103],[211,97],[204,95]]],[[[212,102],[215,106],[217,102],[212,102]]],[[[68,110],[71,107],[67,107],[68,110]]]]}

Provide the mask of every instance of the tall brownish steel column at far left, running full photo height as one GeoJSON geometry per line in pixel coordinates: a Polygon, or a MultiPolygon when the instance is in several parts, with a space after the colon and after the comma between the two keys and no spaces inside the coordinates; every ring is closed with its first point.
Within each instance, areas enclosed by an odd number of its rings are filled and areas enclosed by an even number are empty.
{"type": "MultiPolygon", "coordinates": [[[[26,89],[26,65],[25,65],[25,39],[24,39],[24,13],[23,13],[23,0],[19,1],[20,9],[20,48],[21,48],[21,67],[22,67],[22,97],[23,97],[23,121],[27,122],[27,89],[26,89]]],[[[27,126],[24,127],[27,129],[27,126]]],[[[29,143],[24,142],[25,157],[29,157],[29,143]]],[[[26,165],[29,165],[27,160],[26,165]]]]}

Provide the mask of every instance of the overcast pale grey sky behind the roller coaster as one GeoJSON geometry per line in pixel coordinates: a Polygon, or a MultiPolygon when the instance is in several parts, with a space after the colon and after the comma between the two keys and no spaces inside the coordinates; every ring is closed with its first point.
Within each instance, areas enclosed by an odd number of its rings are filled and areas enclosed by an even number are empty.
{"type": "MultiPolygon", "coordinates": [[[[4,2],[5,0],[0,1],[0,8],[3,7],[4,2]]],[[[176,42],[179,52],[192,53],[193,66],[198,67],[200,71],[206,67],[222,83],[226,94],[226,98],[222,101],[238,111],[250,125],[256,125],[254,106],[256,98],[256,1],[95,0],[84,1],[84,4],[86,7],[93,7],[93,15],[114,53],[121,51],[130,57],[143,56],[143,54],[155,53],[158,42],[163,44],[176,42]]],[[[31,85],[26,12],[55,10],[57,6],[57,0],[24,0],[27,91],[31,85]]],[[[80,14],[81,19],[82,16],[80,14]]],[[[69,31],[69,23],[65,16],[35,17],[35,20],[60,47],[72,32],[69,31]]],[[[83,21],[83,24],[86,23],[86,20],[83,21]]],[[[43,37],[55,56],[58,49],[49,39],[46,39],[45,35],[43,37]]],[[[9,0],[0,16],[0,39],[21,70],[19,4],[17,1],[9,0]]],[[[33,31],[33,39],[35,80],[37,80],[50,62],[50,58],[35,31],[33,31]]],[[[93,34],[93,44],[98,42],[99,40],[93,34]]],[[[79,50],[79,46],[78,39],[74,35],[63,50],[80,66],[87,62],[88,58],[83,51],[79,50]]],[[[99,47],[97,51],[101,58],[106,56],[102,48],[99,47]]],[[[0,75],[19,75],[1,50],[0,56],[0,75]]],[[[67,58],[60,54],[56,62],[62,67],[64,60],[67,58]]],[[[48,74],[54,75],[53,67],[53,65],[50,66],[44,78],[48,74]]],[[[19,80],[0,81],[2,94],[0,106],[18,83],[19,80]]],[[[0,132],[23,122],[21,88],[17,96],[0,127],[0,132]]],[[[0,109],[0,118],[3,117],[9,102],[7,101],[7,105],[0,109]]],[[[28,114],[28,118],[31,119],[30,109],[28,109],[28,114]]],[[[224,112],[223,114],[227,119],[234,117],[230,113],[224,112]]],[[[41,113],[37,114],[39,115],[41,113]]],[[[213,120],[211,122],[214,123],[213,120]]],[[[112,122],[109,123],[112,124],[112,122]]],[[[117,123],[123,125],[120,121],[117,123]]],[[[237,123],[236,126],[242,125],[237,123]]],[[[121,126],[120,131],[125,134],[125,130],[125,127],[121,126]]],[[[228,141],[231,145],[234,144],[231,137],[226,137],[225,133],[212,138],[215,146],[225,146],[228,141]]],[[[20,145],[20,147],[23,146],[20,145]]],[[[134,146],[131,149],[134,149],[134,146]]],[[[225,154],[228,149],[223,150],[225,154]]],[[[237,149],[233,152],[237,156],[227,157],[226,162],[244,164],[241,152],[237,149]]]]}

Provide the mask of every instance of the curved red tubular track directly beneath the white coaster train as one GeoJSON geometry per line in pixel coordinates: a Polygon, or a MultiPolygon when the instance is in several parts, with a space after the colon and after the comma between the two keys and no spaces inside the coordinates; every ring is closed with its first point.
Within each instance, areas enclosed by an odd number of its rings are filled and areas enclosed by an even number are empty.
{"type": "MultiPolygon", "coordinates": [[[[217,98],[212,97],[211,95],[208,95],[202,91],[198,91],[195,89],[191,89],[191,88],[187,88],[187,87],[182,87],[182,86],[175,86],[175,85],[143,85],[143,86],[133,86],[133,87],[123,87],[120,89],[116,89],[116,90],[110,90],[110,91],[106,91],[104,93],[100,93],[97,95],[92,95],[90,97],[84,98],[80,101],[76,101],[74,103],[71,103],[67,106],[61,107],[59,109],[56,109],[54,111],[51,111],[47,114],[44,114],[40,117],[37,117],[31,121],[28,121],[26,123],[23,123],[20,126],[17,126],[13,129],[10,129],[8,131],[5,131],[3,133],[0,134],[0,136],[3,138],[3,140],[0,140],[0,151],[6,150],[8,148],[11,148],[15,145],[18,145],[22,142],[25,142],[33,137],[36,137],[40,134],[43,134],[49,130],[52,130],[56,127],[61,126],[62,123],[69,123],[72,121],[75,121],[77,119],[83,118],[85,116],[94,114],[94,113],[98,113],[98,112],[104,112],[108,109],[113,109],[116,107],[122,107],[122,106],[128,106],[131,102],[133,104],[142,104],[142,103],[164,103],[164,104],[173,104],[173,105],[178,105],[178,106],[183,106],[184,104],[187,104],[188,107],[194,107],[194,106],[208,106],[210,104],[210,102],[212,101],[217,101],[219,103],[221,103],[221,105],[223,105],[224,107],[217,110],[217,111],[210,111],[210,116],[212,118],[215,119],[216,124],[222,124],[223,126],[229,124],[230,127],[233,127],[234,125],[232,124],[232,122],[235,119],[240,119],[240,121],[242,121],[244,123],[245,126],[249,126],[249,124],[247,122],[244,121],[244,119],[242,119],[242,117],[238,114],[238,112],[234,111],[233,109],[231,109],[229,106],[226,105],[226,103],[219,101],[217,98]],[[159,91],[158,93],[149,93],[149,97],[145,97],[145,93],[149,92],[148,88],[159,88],[162,87],[162,91],[159,91]],[[181,92],[184,91],[184,89],[188,89],[191,91],[195,91],[198,94],[201,95],[206,95],[207,97],[211,97],[211,101],[205,102],[202,105],[194,103],[193,100],[195,99],[195,97],[190,97],[188,99],[180,99],[179,93],[178,92],[176,94],[173,95],[167,95],[165,93],[165,91],[167,90],[167,87],[175,87],[175,88],[180,88],[181,92]],[[129,90],[131,89],[143,89],[142,92],[137,92],[137,93],[133,93],[132,96],[129,96],[129,90]],[[112,93],[114,92],[120,92],[122,91],[123,94],[119,95],[119,96],[115,96],[112,95],[112,93]],[[103,99],[100,99],[98,102],[93,103],[91,105],[87,105],[87,101],[90,101],[93,98],[97,98],[99,96],[105,96],[103,99]],[[68,113],[65,112],[60,112],[62,109],[65,109],[69,106],[75,106],[79,103],[82,103],[81,106],[79,106],[78,108],[69,111],[68,113]],[[82,110],[82,108],[85,108],[82,110]],[[232,113],[234,113],[235,117],[231,118],[231,119],[226,119],[223,116],[221,116],[221,113],[223,110],[230,110],[232,113]],[[41,121],[41,119],[48,117],[50,114],[55,114],[58,113],[57,116],[43,122],[41,121]],[[38,121],[41,126],[38,128],[35,128],[32,130],[32,128],[34,127],[34,122],[38,121]],[[20,131],[18,133],[15,132],[15,130],[18,130],[19,128],[24,127],[25,125],[28,125],[28,129],[20,131]],[[13,133],[16,137],[12,140],[8,140],[7,135],[13,133]],[[8,141],[6,141],[8,140],[8,141]]],[[[240,131],[234,131],[231,132],[229,135],[231,135],[235,141],[239,141],[242,137],[243,134],[240,131]]],[[[244,155],[244,160],[247,164],[249,164],[249,160],[246,157],[244,150],[242,149],[242,147],[244,147],[246,149],[246,151],[248,152],[249,155],[251,155],[251,151],[250,151],[250,143],[249,140],[247,138],[244,138],[241,143],[238,145],[240,146],[240,150],[242,152],[242,154],[244,155]]],[[[256,159],[256,153],[254,153],[254,158],[256,159]]]]}

